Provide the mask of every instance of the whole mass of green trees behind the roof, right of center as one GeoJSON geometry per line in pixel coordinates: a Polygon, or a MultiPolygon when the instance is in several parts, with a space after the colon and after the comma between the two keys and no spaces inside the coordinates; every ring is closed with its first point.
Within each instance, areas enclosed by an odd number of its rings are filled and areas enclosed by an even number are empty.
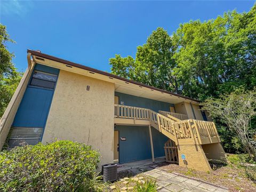
{"type": "Polygon", "coordinates": [[[157,28],[136,58],[116,55],[113,74],[205,100],[256,86],[256,5],[247,13],[183,23],[173,33],[157,28]]]}

